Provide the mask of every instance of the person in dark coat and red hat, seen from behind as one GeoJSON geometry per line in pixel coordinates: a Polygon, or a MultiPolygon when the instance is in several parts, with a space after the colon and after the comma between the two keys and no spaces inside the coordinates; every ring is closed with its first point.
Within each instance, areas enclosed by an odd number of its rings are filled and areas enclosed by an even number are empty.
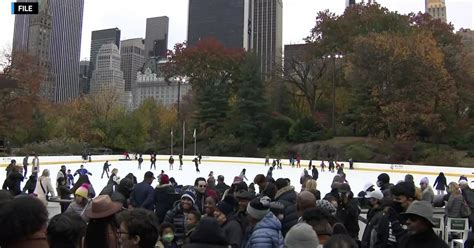
{"type": "Polygon", "coordinates": [[[160,185],[155,188],[155,213],[160,223],[163,222],[166,212],[173,208],[173,203],[178,199],[179,194],[175,193],[168,175],[161,175],[160,185]]]}

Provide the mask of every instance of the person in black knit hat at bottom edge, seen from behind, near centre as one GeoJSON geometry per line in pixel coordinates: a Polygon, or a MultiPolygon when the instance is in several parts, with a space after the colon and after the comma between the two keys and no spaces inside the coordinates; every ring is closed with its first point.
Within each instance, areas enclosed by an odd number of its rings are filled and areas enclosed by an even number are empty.
{"type": "Polygon", "coordinates": [[[224,231],[216,219],[203,217],[183,248],[228,248],[224,231]]]}

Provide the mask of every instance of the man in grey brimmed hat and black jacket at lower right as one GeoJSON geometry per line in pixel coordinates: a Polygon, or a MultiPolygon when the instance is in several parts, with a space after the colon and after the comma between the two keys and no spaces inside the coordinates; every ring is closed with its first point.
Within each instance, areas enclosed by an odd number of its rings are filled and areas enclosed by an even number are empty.
{"type": "Polygon", "coordinates": [[[448,245],[433,231],[433,207],[426,201],[414,201],[401,215],[407,233],[400,238],[404,248],[447,248],[448,245]]]}

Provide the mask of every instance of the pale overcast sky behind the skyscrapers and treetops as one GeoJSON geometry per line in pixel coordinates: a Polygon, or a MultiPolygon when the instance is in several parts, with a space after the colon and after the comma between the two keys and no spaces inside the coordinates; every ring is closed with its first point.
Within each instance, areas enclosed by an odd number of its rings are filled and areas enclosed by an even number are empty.
{"type": "MultiPolygon", "coordinates": [[[[13,0],[0,0],[0,48],[11,48],[14,16],[13,0]]],[[[63,0],[68,1],[68,0],[63,0]]],[[[233,0],[229,0],[233,1],[233,0]]],[[[283,42],[301,43],[315,24],[318,11],[329,9],[341,14],[346,0],[283,0],[283,42]]],[[[378,0],[392,11],[406,14],[424,11],[425,0],[378,0]]],[[[448,22],[459,28],[474,29],[473,0],[446,0],[448,22]]],[[[85,0],[81,58],[89,57],[93,30],[118,27],[121,39],[145,37],[146,18],[166,15],[170,18],[169,44],[186,40],[188,0],[85,0]]]]}

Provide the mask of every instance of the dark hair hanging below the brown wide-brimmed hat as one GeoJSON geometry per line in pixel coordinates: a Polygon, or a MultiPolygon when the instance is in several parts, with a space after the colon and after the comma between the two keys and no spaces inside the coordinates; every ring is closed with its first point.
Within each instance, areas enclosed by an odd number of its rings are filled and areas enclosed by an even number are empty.
{"type": "Polygon", "coordinates": [[[84,247],[109,247],[109,225],[114,231],[118,228],[115,214],[105,218],[90,219],[87,224],[84,247]]]}

